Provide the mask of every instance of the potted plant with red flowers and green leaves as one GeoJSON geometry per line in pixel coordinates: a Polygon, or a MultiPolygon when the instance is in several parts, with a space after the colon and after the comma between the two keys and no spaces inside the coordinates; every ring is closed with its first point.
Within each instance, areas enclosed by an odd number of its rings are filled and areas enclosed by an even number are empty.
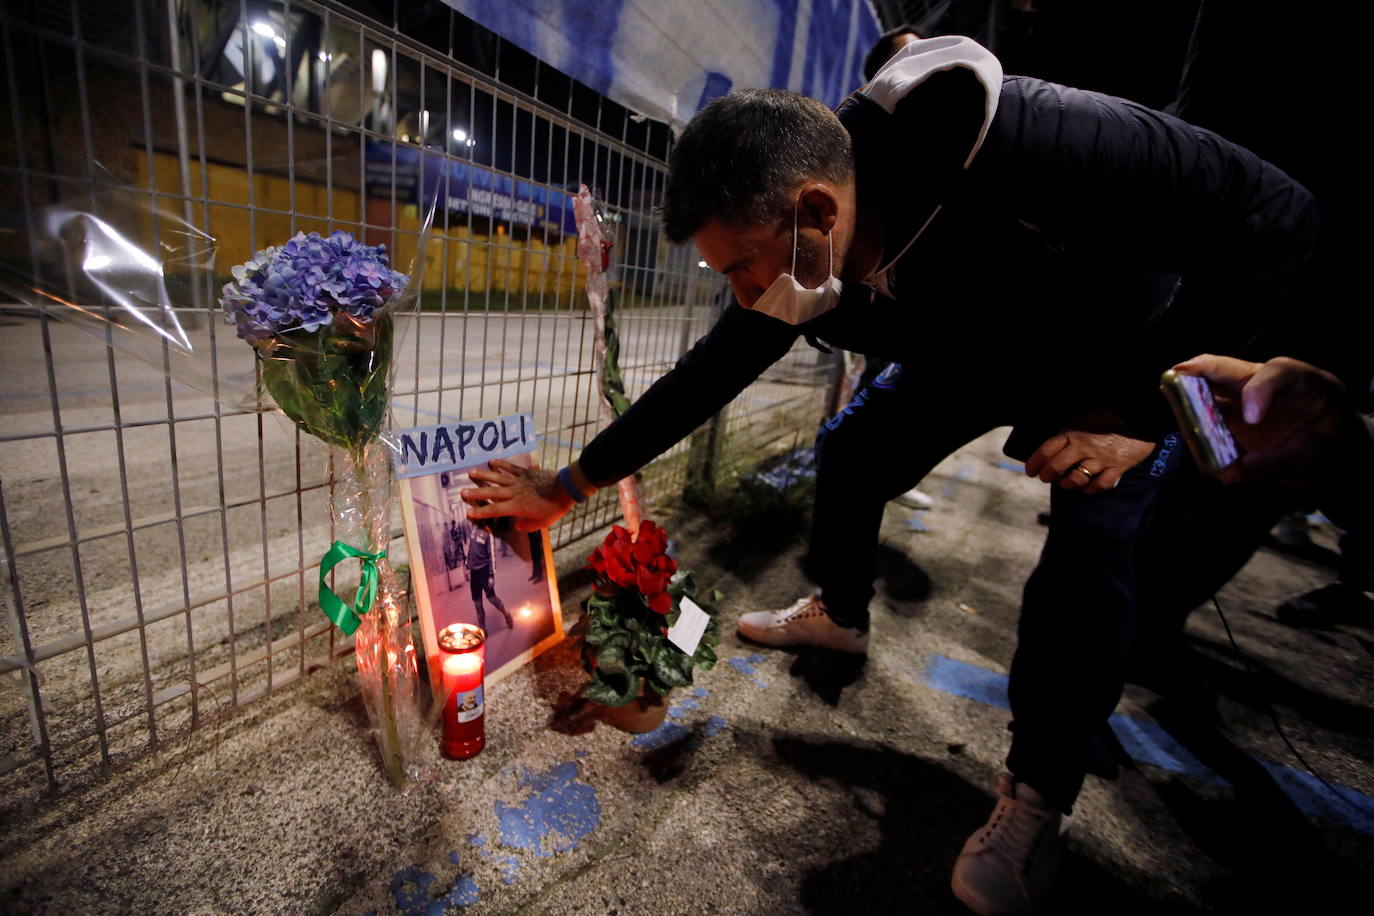
{"type": "Polygon", "coordinates": [[[668,713],[672,689],[688,687],[692,669],[716,665],[720,625],[714,603],[720,593],[694,592],[691,573],[677,569],[668,556],[666,534],[647,519],[635,536],[614,526],[587,566],[596,573],[596,591],[583,604],[583,663],[592,676],[587,698],[606,706],[606,718],[617,728],[653,731],[668,713]],[[683,599],[709,618],[691,655],[668,639],[683,612],[683,599]]]}

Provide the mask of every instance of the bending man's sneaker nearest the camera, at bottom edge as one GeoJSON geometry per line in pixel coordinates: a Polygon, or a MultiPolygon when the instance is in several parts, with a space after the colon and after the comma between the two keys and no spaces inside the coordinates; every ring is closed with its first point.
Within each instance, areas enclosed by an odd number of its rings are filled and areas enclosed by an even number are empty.
{"type": "Polygon", "coordinates": [[[1059,869],[1061,835],[1068,827],[1068,814],[1002,773],[992,817],[954,864],[954,895],[980,916],[1036,912],[1059,869]]]}

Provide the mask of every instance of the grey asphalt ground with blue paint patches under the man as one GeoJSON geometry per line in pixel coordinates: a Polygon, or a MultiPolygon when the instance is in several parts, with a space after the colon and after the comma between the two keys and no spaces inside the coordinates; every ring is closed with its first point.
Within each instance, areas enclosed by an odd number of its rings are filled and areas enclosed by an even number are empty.
{"type": "MultiPolygon", "coordinates": [[[[386,784],[350,662],[136,755],[58,798],[0,802],[0,901],[48,913],[963,912],[948,890],[1007,751],[1004,674],[1047,493],[999,434],[889,507],[867,659],[741,641],[742,612],[802,591],[800,540],[761,549],[735,519],[658,507],[679,560],[725,593],[721,663],[660,732],[585,715],[569,640],[496,685],[488,746],[433,751],[386,784]]],[[[1128,687],[1134,762],[1090,777],[1048,912],[1363,908],[1374,861],[1374,636],[1298,629],[1290,595],[1334,580],[1263,548],[1189,622],[1180,681],[1128,687]],[[1305,777],[1270,709],[1308,764],[1305,777]]],[[[800,533],[798,533],[800,537],[800,533]]],[[[787,541],[787,538],[782,538],[787,541]]],[[[563,551],[569,623],[585,595],[563,551]]]]}

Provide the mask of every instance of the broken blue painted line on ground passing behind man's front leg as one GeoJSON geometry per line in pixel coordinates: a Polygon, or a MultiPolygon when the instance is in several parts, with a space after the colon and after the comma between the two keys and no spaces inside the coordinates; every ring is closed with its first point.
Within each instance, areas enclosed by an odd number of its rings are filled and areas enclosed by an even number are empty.
{"type": "MultiPolygon", "coordinates": [[[[927,687],[945,694],[999,709],[1011,709],[1007,702],[1006,674],[967,662],[958,662],[944,655],[930,655],[921,677],[927,687]]],[[[1113,715],[1109,721],[1121,746],[1134,759],[1215,786],[1230,784],[1164,731],[1158,722],[1120,714],[1113,715]]],[[[1374,798],[1342,786],[1327,788],[1316,776],[1296,766],[1254,759],[1303,812],[1374,836],[1374,798]]]]}

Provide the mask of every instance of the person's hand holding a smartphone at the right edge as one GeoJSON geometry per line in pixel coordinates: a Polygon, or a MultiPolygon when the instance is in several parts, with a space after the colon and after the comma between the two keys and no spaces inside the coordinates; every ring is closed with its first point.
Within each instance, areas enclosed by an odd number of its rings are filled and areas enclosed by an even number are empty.
{"type": "Polygon", "coordinates": [[[1353,407],[1330,372],[1286,356],[1249,363],[1195,356],[1173,367],[1212,385],[1217,407],[1245,452],[1221,472],[1226,483],[1270,481],[1305,485],[1352,442],[1367,439],[1353,407]]]}

